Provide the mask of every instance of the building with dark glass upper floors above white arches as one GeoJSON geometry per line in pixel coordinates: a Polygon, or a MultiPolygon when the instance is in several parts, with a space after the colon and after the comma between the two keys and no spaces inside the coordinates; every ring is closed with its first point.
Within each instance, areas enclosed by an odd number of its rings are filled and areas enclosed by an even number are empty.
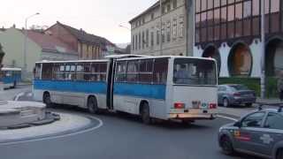
{"type": "Polygon", "coordinates": [[[265,0],[265,43],[261,42],[261,0],[195,0],[195,57],[218,60],[220,77],[260,77],[283,69],[281,0],[265,0]]]}

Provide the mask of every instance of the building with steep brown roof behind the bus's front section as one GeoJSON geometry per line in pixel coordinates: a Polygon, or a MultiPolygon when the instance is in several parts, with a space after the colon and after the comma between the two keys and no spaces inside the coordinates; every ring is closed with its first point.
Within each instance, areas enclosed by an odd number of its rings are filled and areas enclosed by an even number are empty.
{"type": "Polygon", "coordinates": [[[61,41],[69,44],[79,52],[80,59],[100,59],[109,47],[115,45],[107,39],[88,34],[82,29],[76,29],[57,21],[55,25],[46,29],[46,34],[52,34],[61,41]]]}

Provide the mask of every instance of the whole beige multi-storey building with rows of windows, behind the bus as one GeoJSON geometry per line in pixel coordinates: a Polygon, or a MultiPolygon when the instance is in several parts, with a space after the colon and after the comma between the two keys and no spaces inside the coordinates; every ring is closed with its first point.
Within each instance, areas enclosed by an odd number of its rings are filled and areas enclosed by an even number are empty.
{"type": "Polygon", "coordinates": [[[163,0],[161,6],[158,1],[130,20],[131,53],[192,56],[194,36],[189,29],[194,25],[189,21],[194,16],[187,16],[193,7],[191,1],[163,0]]]}

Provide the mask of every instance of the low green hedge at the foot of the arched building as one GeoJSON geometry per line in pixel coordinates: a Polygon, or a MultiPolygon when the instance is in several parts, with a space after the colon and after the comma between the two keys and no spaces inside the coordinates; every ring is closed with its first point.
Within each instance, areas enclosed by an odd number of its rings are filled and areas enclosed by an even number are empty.
{"type": "MultiPolygon", "coordinates": [[[[278,98],[277,78],[266,78],[266,97],[278,98]]],[[[259,78],[219,78],[218,84],[243,84],[249,89],[256,91],[256,96],[260,96],[260,79],[259,78]]]]}

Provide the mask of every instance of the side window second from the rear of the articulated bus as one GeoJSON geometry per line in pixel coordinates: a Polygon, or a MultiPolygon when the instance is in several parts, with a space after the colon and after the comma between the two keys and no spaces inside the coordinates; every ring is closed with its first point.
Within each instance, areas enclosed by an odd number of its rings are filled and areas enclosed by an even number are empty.
{"type": "Polygon", "coordinates": [[[146,59],[140,61],[140,82],[151,83],[152,82],[152,72],[153,72],[153,60],[146,59]]]}

